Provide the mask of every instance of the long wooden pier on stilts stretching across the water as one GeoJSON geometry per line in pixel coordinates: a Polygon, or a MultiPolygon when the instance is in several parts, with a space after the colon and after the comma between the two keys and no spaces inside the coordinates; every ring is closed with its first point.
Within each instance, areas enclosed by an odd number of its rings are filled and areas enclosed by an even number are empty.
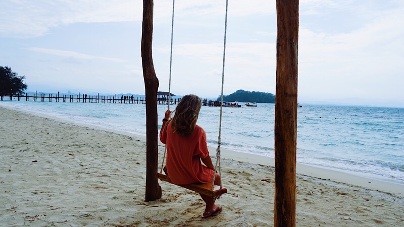
{"type": "MultiPolygon", "coordinates": [[[[63,94],[62,96],[60,95],[60,92],[58,92],[58,94],[56,95],[52,95],[52,94],[45,94],[45,93],[40,93],[39,95],[37,94],[37,92],[35,91],[35,93],[32,93],[32,95],[30,95],[29,93],[25,93],[25,95],[21,95],[21,94],[9,94],[9,95],[5,95],[5,94],[0,94],[0,101],[4,101],[5,97],[7,99],[7,97],[9,98],[9,100],[13,100],[13,98],[17,98],[18,101],[21,101],[21,98],[25,98],[25,101],[39,101],[44,102],[44,101],[48,101],[48,102],[88,102],[88,103],[137,103],[137,104],[145,104],[146,103],[146,99],[144,97],[133,97],[132,96],[128,96],[128,95],[121,95],[121,96],[117,96],[115,94],[115,96],[99,96],[99,93],[97,95],[87,95],[87,94],[82,94],[80,95],[80,93],[77,95],[66,95],[63,94]]],[[[173,99],[170,98],[170,104],[176,104],[178,101],[180,100],[180,98],[177,99],[173,99]]],[[[168,97],[162,97],[159,96],[157,97],[157,104],[168,104],[168,97]]]]}

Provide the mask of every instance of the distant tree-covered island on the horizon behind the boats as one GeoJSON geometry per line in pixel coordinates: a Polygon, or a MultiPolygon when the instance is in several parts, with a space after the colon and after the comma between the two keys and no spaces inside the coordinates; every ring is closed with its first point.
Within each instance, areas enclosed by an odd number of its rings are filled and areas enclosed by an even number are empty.
{"type": "MultiPolygon", "coordinates": [[[[217,98],[220,101],[220,96],[217,98]]],[[[275,103],[275,95],[260,91],[244,91],[238,90],[229,95],[223,95],[224,102],[260,102],[260,103],[275,103]]]]}

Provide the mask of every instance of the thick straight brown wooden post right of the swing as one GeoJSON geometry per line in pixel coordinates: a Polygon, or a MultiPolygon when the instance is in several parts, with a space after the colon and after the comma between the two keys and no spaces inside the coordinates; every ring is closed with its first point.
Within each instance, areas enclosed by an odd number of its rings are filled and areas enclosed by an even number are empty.
{"type": "Polygon", "coordinates": [[[296,224],[299,1],[277,0],[274,226],[296,224]]]}

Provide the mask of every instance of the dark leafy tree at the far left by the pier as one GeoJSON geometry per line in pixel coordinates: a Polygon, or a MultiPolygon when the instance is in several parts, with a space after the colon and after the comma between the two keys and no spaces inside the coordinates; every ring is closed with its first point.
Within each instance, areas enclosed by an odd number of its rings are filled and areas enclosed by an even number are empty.
{"type": "Polygon", "coordinates": [[[0,94],[22,94],[28,87],[25,76],[19,76],[10,67],[0,66],[0,94]]]}

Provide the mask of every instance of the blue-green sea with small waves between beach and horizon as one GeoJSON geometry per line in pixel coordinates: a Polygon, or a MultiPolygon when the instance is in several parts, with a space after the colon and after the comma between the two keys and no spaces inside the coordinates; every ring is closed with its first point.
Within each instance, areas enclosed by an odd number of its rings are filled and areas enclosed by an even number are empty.
{"type": "MultiPolygon", "coordinates": [[[[15,99],[0,105],[146,135],[145,104],[68,101],[15,99]]],[[[221,147],[274,157],[275,104],[239,104],[239,108],[223,107],[221,147]]],[[[301,105],[297,108],[297,162],[404,185],[404,108],[301,105]]],[[[159,120],[167,107],[158,105],[159,120]]],[[[220,107],[201,107],[197,124],[205,129],[208,146],[218,145],[219,119],[220,107]]]]}

